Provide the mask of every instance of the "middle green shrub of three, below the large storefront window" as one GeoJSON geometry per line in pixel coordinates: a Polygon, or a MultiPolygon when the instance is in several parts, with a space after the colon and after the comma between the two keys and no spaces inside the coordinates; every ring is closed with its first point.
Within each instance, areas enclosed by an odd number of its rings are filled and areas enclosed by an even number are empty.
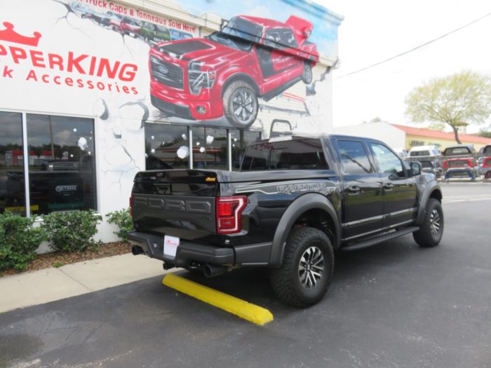
{"type": "Polygon", "coordinates": [[[97,247],[93,236],[102,220],[94,210],[51,212],[43,216],[43,229],[48,233],[53,250],[83,252],[88,247],[97,247]]]}

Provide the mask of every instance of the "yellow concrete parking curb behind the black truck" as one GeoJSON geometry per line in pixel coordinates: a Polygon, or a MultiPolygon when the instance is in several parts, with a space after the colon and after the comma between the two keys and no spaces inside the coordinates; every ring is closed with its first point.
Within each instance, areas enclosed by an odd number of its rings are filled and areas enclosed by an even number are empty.
{"type": "Polygon", "coordinates": [[[172,287],[184,294],[204,301],[224,311],[238,315],[238,317],[255,323],[256,325],[265,325],[273,320],[270,311],[255,304],[248,303],[245,300],[232,297],[229,294],[219,292],[210,287],[200,285],[196,282],[187,280],[180,276],[168,273],[163,277],[163,285],[172,287]]]}

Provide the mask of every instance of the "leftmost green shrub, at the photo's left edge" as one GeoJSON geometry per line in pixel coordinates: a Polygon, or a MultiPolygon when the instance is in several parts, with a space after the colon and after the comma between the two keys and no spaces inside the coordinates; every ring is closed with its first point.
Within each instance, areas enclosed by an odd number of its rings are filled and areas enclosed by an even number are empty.
{"type": "Polygon", "coordinates": [[[46,233],[34,228],[34,218],[8,211],[0,214],[0,271],[12,267],[18,271],[24,269],[36,256],[43,240],[47,240],[46,233]]]}

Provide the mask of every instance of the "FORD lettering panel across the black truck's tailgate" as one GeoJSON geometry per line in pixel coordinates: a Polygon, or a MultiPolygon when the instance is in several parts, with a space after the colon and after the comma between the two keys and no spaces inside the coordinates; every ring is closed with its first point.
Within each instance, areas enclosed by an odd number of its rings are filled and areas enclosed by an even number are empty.
{"type": "Polygon", "coordinates": [[[212,211],[212,200],[213,198],[208,200],[166,196],[134,196],[133,203],[135,208],[144,207],[154,210],[210,214],[212,211]]]}

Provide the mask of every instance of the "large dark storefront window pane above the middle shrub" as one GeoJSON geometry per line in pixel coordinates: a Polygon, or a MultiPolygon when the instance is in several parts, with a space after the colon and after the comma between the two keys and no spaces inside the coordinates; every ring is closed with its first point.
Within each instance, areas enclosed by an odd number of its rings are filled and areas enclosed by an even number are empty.
{"type": "Polygon", "coordinates": [[[95,209],[94,123],[27,114],[32,214],[95,209]]]}

